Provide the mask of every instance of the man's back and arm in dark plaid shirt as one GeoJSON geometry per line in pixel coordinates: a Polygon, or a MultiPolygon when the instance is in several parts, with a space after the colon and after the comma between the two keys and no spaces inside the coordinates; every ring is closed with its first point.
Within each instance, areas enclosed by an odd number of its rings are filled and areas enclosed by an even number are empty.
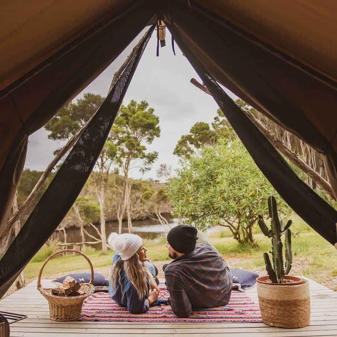
{"type": "Polygon", "coordinates": [[[231,297],[231,272],[208,243],[168,264],[165,279],[172,309],[180,317],[188,317],[192,308],[226,305],[231,297]]]}

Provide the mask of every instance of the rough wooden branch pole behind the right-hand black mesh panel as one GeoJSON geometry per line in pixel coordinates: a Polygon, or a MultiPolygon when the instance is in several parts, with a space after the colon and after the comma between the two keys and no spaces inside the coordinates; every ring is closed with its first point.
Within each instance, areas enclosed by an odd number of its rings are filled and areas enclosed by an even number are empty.
{"type": "MultiPolygon", "coordinates": [[[[190,81],[194,86],[201,89],[206,94],[212,96],[206,86],[202,85],[195,79],[190,81]]],[[[213,96],[212,96],[213,97],[213,96]]],[[[240,108],[240,107],[239,107],[240,108]]],[[[317,185],[323,188],[334,200],[336,197],[332,191],[332,187],[328,181],[321,177],[315,170],[313,170],[305,161],[303,161],[296,153],[289,150],[282,141],[277,139],[275,135],[268,130],[268,128],[259,121],[251,112],[241,109],[242,112],[254,123],[254,125],[267,137],[269,142],[281,152],[290,162],[299,167],[305,174],[307,174],[317,185]]]]}

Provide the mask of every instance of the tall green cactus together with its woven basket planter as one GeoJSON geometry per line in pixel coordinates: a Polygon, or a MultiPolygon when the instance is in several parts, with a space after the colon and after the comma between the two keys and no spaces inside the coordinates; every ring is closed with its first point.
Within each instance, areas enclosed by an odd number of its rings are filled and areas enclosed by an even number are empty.
{"type": "Polygon", "coordinates": [[[257,295],[264,323],[284,328],[300,328],[309,325],[310,295],[309,282],[296,276],[287,275],[292,266],[291,220],[279,220],[276,200],[268,198],[270,229],[261,215],[258,224],[262,233],[272,239],[272,263],[268,253],[264,253],[268,276],[260,276],[257,281],[257,295]],[[282,236],[284,235],[284,253],[282,236]],[[283,258],[284,256],[284,258],[283,258]],[[285,260],[285,263],[284,263],[285,260]]]}

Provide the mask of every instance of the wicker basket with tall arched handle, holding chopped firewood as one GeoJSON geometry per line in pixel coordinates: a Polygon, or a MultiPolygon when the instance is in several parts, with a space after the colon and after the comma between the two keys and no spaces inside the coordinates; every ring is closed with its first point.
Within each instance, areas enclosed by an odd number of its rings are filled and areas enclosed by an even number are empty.
{"type": "Polygon", "coordinates": [[[91,294],[93,294],[95,287],[93,285],[94,282],[94,269],[92,268],[92,264],[89,260],[89,258],[81,253],[78,250],[75,249],[63,249],[59,250],[56,253],[50,255],[44,262],[44,264],[41,267],[38,279],[37,279],[37,289],[39,292],[47,299],[49,304],[49,313],[50,318],[53,320],[58,321],[68,321],[68,320],[76,320],[81,317],[81,311],[82,311],[82,303],[83,301],[91,294]],[[42,288],[41,286],[41,275],[44,266],[47,264],[47,262],[53,258],[57,254],[62,254],[64,252],[73,252],[76,254],[80,254],[83,257],[86,258],[86,260],[89,263],[90,269],[91,269],[91,277],[89,283],[81,283],[81,288],[85,294],[80,296],[72,296],[72,297],[61,297],[52,295],[52,288],[42,288]]]}

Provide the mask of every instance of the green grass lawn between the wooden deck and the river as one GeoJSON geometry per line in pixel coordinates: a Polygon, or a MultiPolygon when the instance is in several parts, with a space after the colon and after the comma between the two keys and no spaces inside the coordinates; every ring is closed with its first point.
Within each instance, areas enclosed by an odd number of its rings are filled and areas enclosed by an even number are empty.
{"type": "MultiPolygon", "coordinates": [[[[290,229],[293,234],[293,268],[290,274],[307,276],[337,291],[337,250],[299,217],[294,215],[292,219],[294,224],[290,229]]],[[[226,231],[226,228],[221,228],[220,231],[215,231],[210,235],[211,241],[219,253],[225,259],[228,259],[232,268],[242,268],[263,273],[265,272],[263,253],[270,250],[271,242],[270,239],[261,234],[259,228],[254,229],[254,238],[259,243],[257,248],[240,245],[231,238],[231,233],[229,230],[226,231]]],[[[144,244],[148,249],[147,254],[152,261],[168,259],[165,243],[166,239],[164,237],[161,238],[160,242],[144,240],[144,244]]],[[[53,249],[52,247],[44,246],[34,256],[25,268],[25,277],[27,279],[37,277],[44,259],[52,253],[51,250],[53,249]]],[[[110,250],[108,255],[104,255],[100,251],[87,248],[85,253],[93,267],[99,268],[110,266],[114,252],[110,250]]],[[[88,268],[88,263],[82,256],[60,255],[48,262],[44,268],[43,275],[88,268]]]]}

